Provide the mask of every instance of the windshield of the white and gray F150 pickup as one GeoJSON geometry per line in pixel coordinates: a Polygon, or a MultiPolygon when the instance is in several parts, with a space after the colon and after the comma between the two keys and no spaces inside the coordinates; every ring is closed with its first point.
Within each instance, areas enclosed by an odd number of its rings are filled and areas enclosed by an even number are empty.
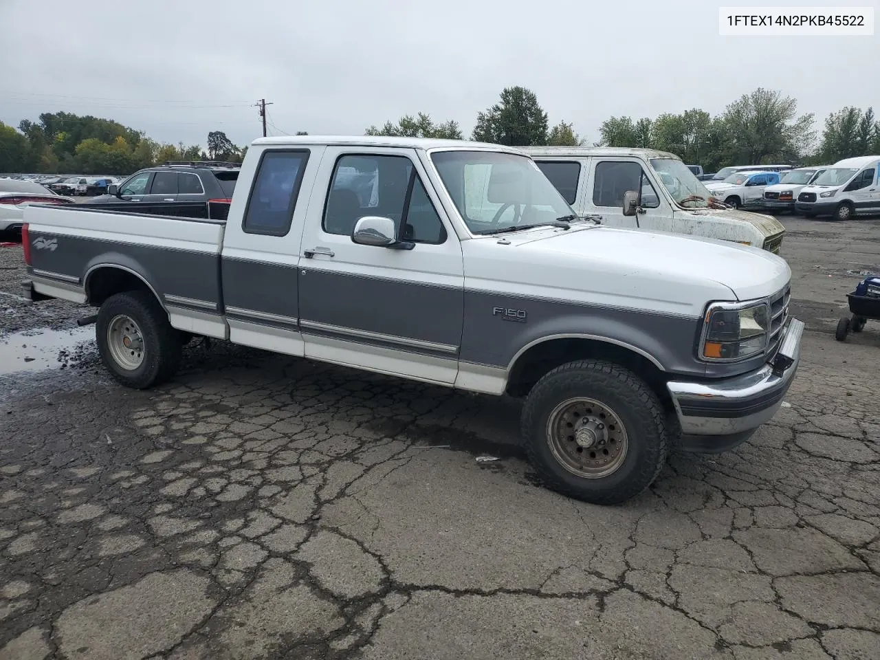
{"type": "Polygon", "coordinates": [[[532,158],[501,151],[437,151],[431,160],[473,233],[576,215],[532,158]]]}

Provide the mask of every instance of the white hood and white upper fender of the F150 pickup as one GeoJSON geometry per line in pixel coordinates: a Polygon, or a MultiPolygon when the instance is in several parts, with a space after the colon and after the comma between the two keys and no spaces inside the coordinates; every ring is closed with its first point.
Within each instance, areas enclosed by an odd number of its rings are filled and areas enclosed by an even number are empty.
{"type": "Polygon", "coordinates": [[[503,272],[536,293],[697,317],[709,301],[769,296],[791,279],[788,263],[766,250],[653,231],[540,228],[466,244],[466,280],[503,272]]]}

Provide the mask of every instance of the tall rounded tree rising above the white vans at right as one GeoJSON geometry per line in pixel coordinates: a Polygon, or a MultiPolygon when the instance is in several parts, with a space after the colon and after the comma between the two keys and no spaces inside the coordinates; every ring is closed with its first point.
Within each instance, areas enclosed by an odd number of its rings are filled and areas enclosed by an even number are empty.
{"type": "Polygon", "coordinates": [[[731,103],[722,116],[732,155],[742,162],[796,160],[810,150],[816,136],[812,113],[798,116],[796,99],[763,87],[731,103]]]}

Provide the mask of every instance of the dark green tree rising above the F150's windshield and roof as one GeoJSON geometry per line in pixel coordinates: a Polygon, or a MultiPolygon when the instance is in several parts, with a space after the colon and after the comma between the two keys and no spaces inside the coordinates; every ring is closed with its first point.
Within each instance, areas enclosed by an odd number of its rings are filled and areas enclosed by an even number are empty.
{"type": "Polygon", "coordinates": [[[508,146],[547,143],[547,114],[535,92],[524,87],[506,87],[501,99],[477,114],[473,139],[508,146]]]}

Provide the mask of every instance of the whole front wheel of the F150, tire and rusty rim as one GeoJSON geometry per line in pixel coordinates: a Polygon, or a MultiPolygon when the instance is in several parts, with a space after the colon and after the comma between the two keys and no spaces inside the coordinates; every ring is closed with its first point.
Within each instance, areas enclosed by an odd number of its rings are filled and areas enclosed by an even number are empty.
{"type": "Polygon", "coordinates": [[[617,504],[656,479],[668,453],[666,416],[632,371],[584,360],[550,371],[525,401],[525,449],[547,487],[617,504]]]}

